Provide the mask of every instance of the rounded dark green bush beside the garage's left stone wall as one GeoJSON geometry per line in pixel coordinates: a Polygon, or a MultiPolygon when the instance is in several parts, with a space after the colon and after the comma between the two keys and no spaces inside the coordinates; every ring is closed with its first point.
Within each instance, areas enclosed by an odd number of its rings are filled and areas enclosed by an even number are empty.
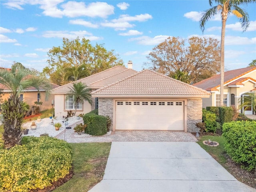
{"type": "MultiPolygon", "coordinates": [[[[95,111],[95,110],[94,110],[95,111]]],[[[83,117],[84,124],[87,125],[85,133],[90,135],[104,135],[107,133],[107,118],[95,114],[93,111],[83,117]]]]}

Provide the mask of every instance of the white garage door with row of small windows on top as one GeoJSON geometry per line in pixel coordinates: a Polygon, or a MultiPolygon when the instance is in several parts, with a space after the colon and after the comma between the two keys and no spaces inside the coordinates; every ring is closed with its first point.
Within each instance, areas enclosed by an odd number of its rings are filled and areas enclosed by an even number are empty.
{"type": "Polygon", "coordinates": [[[116,130],[184,130],[184,102],[116,101],[116,130]]]}

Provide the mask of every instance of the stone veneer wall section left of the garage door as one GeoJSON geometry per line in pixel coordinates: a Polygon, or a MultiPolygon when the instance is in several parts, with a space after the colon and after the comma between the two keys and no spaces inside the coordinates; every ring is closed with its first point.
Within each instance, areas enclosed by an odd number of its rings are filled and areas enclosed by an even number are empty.
{"type": "Polygon", "coordinates": [[[99,98],[99,115],[109,116],[111,119],[110,130],[113,130],[113,98],[99,98]]]}

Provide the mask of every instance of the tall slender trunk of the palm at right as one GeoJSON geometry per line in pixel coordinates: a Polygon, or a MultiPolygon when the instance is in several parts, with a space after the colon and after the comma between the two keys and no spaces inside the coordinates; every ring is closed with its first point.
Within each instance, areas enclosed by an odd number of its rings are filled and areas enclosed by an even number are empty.
{"type": "Polygon", "coordinates": [[[222,29],[220,40],[220,106],[224,106],[224,41],[227,13],[222,11],[222,29]]]}

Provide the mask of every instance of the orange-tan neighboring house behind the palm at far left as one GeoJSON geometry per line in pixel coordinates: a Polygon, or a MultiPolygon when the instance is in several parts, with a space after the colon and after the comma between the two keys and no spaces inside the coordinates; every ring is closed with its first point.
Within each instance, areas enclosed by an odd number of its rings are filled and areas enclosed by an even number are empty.
{"type": "MultiPolygon", "coordinates": [[[[52,88],[57,87],[59,86],[52,84],[52,88]]],[[[4,90],[4,95],[2,96],[3,100],[7,100],[11,95],[10,90],[3,84],[0,84],[0,88],[4,90]]],[[[54,95],[46,97],[45,90],[40,90],[40,92],[38,92],[36,88],[30,87],[20,94],[20,100],[29,104],[30,108],[35,105],[35,102],[42,102],[40,105],[40,110],[43,111],[52,108],[52,104],[54,104],[54,95]]]]}

